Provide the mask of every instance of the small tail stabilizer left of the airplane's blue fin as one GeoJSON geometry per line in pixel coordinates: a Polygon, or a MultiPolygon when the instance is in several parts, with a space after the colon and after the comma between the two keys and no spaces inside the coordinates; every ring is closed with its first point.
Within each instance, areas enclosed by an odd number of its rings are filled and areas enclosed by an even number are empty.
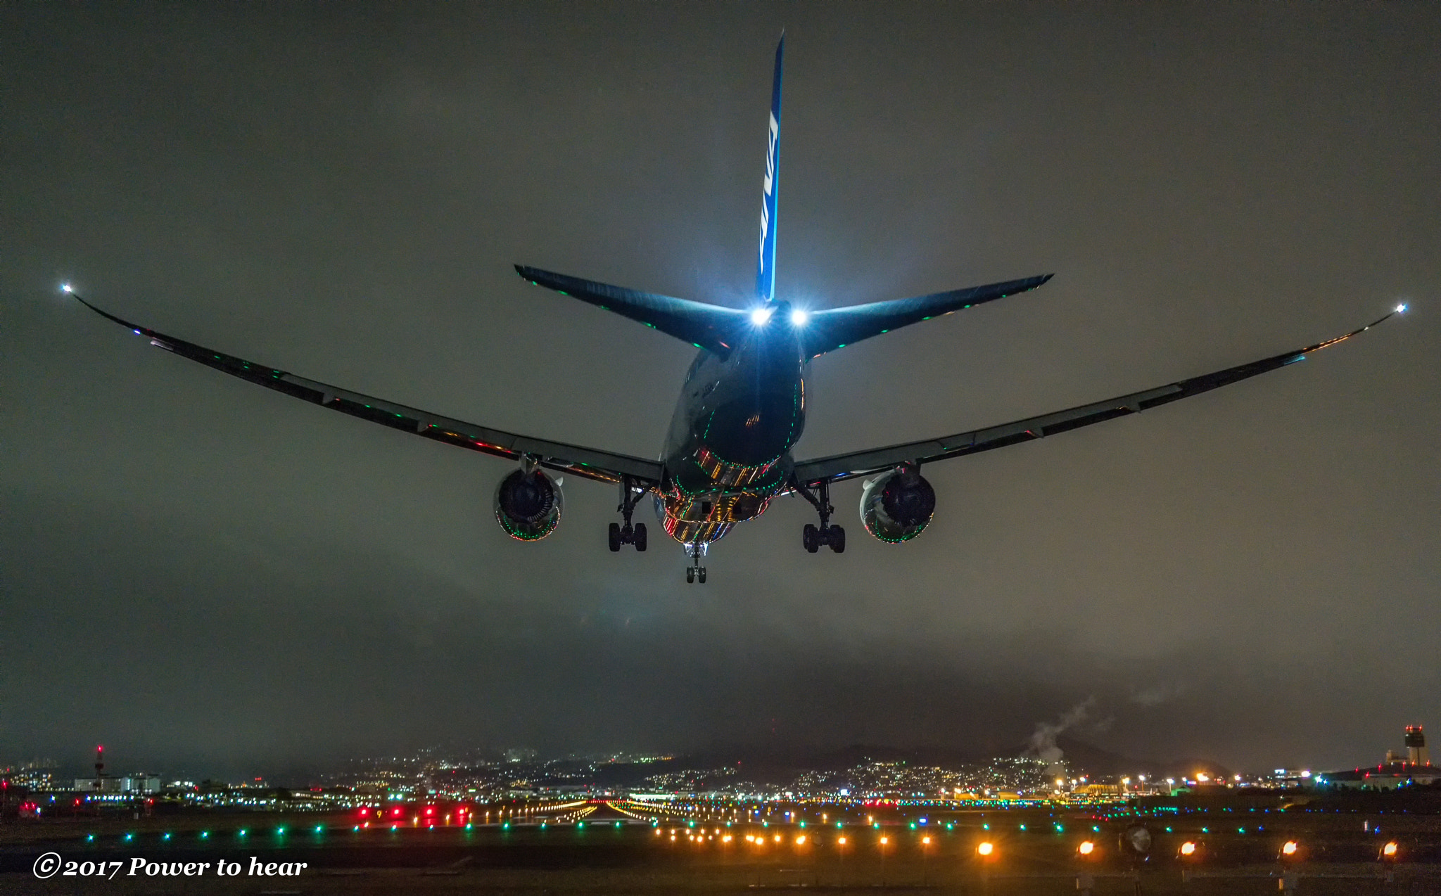
{"type": "Polygon", "coordinates": [[[647,327],[683,339],[697,349],[709,349],[718,354],[731,351],[733,334],[746,320],[745,311],[735,308],[598,284],[539,268],[516,265],[516,274],[537,287],[548,287],[561,295],[579,298],[607,311],[614,311],[621,317],[640,321],[647,327]]]}

